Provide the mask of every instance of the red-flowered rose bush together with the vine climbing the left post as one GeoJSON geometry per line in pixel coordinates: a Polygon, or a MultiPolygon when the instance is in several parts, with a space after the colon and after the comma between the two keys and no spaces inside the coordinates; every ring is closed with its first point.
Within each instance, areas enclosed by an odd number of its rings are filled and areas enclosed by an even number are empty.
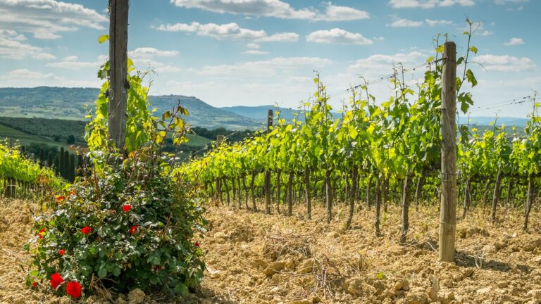
{"type": "Polygon", "coordinates": [[[180,118],[187,110],[178,105],[153,117],[140,75],[128,76],[123,151],[106,138],[108,82],[101,88],[97,117],[87,125],[91,166],[35,217],[25,246],[32,254],[29,288],[73,298],[101,288],[183,294],[201,281],[203,251],[192,238],[204,232],[204,210],[170,178],[175,155],[162,149],[168,134],[175,144],[187,140],[180,118]]]}

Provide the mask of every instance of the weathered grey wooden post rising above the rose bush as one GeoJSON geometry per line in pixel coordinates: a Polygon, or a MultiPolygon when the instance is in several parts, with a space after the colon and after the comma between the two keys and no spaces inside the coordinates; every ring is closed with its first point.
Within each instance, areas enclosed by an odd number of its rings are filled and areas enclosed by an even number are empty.
{"type": "Polygon", "coordinates": [[[126,88],[128,81],[128,9],[129,0],[109,0],[109,116],[108,137],[116,148],[126,140],[126,88]]]}

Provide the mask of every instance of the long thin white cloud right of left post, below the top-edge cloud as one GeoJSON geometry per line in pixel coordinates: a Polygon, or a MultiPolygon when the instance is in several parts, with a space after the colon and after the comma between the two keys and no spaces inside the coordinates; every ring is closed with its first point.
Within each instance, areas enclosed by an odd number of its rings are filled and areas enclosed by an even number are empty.
{"type": "Polygon", "coordinates": [[[199,36],[213,37],[218,40],[251,40],[258,42],[292,42],[299,39],[295,33],[278,33],[268,36],[264,30],[249,30],[240,27],[237,23],[201,24],[197,22],[176,23],[174,25],[159,25],[156,30],[166,32],[192,32],[199,36]]]}

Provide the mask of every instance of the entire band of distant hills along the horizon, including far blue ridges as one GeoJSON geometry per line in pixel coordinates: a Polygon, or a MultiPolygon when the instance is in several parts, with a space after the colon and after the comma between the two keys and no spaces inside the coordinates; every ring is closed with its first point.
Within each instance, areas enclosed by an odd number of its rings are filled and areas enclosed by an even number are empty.
{"type": "MultiPolygon", "coordinates": [[[[92,108],[99,93],[96,88],[0,88],[0,116],[16,118],[61,118],[63,120],[85,120],[85,106],[92,108]]],[[[161,95],[149,96],[151,105],[158,108],[158,113],[176,106],[180,100],[189,111],[187,122],[194,126],[215,129],[255,129],[266,122],[269,109],[274,106],[231,106],[216,108],[194,96],[161,95]]],[[[292,120],[294,113],[299,113],[299,120],[304,120],[302,112],[291,108],[279,108],[280,116],[292,120]]],[[[336,114],[336,117],[340,117],[336,114]]],[[[461,116],[461,124],[468,118],[461,116]]],[[[490,125],[494,118],[478,116],[470,118],[470,125],[490,125]]],[[[526,118],[498,118],[497,125],[524,127],[526,118]]]]}

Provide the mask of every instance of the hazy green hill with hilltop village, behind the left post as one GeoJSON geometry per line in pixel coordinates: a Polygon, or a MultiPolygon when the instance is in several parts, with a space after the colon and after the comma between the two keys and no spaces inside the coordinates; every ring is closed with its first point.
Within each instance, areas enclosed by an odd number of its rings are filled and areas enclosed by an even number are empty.
{"type": "MultiPolygon", "coordinates": [[[[0,88],[0,116],[15,118],[62,118],[64,120],[85,120],[99,94],[95,88],[0,88]]],[[[173,108],[180,100],[188,109],[187,122],[199,127],[214,129],[255,128],[259,120],[213,107],[194,96],[166,95],[149,96],[152,107],[158,113],[173,108]]]]}

